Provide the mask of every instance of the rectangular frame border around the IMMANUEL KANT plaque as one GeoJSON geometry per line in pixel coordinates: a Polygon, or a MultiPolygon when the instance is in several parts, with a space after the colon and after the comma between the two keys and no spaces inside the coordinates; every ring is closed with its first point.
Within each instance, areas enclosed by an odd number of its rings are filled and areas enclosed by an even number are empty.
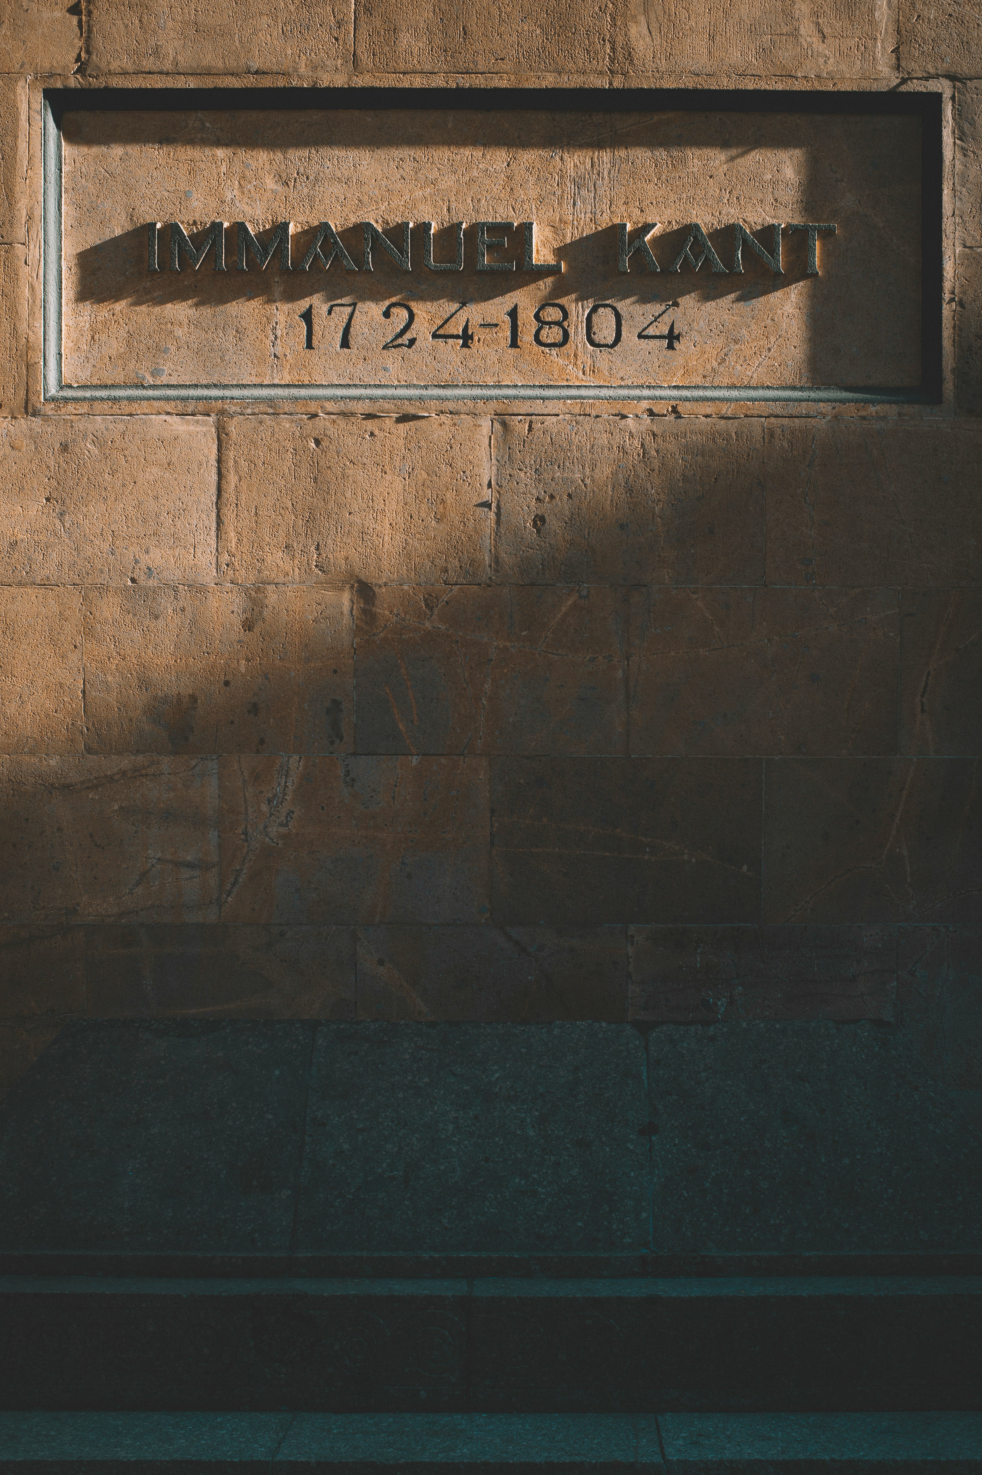
{"type": "Polygon", "coordinates": [[[761,88],[602,87],[46,87],[41,93],[41,403],[43,404],[308,404],[385,403],[728,403],[941,404],[944,400],[944,140],[942,94],[777,91],[761,88]],[[66,385],[62,360],[62,133],[71,111],[192,112],[218,109],[323,111],[342,108],[594,112],[795,112],[919,117],[922,124],[922,376],[919,388],[840,385],[66,385]]]}

